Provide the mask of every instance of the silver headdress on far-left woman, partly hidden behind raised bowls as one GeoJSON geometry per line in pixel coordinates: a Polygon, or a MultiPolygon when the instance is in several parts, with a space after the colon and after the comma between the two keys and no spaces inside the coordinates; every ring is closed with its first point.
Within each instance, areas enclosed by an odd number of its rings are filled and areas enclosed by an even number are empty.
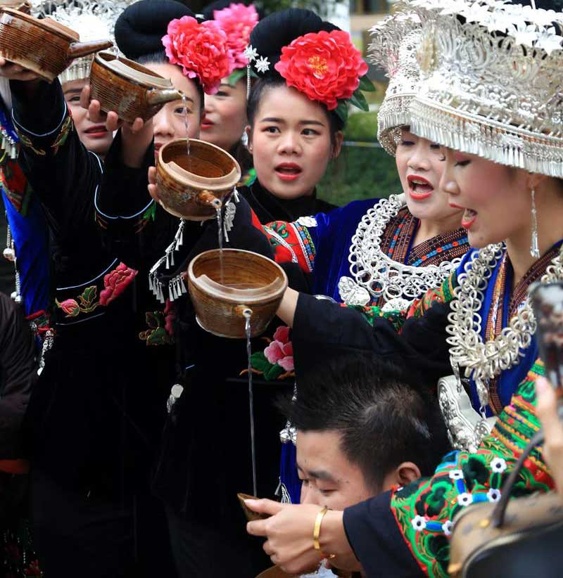
{"type": "MultiPolygon", "coordinates": [[[[32,0],[32,15],[37,18],[53,18],[80,35],[80,41],[110,39],[115,21],[122,11],[135,0],[32,0]]],[[[90,76],[93,56],[76,58],[59,75],[61,83],[80,80],[90,76]]]]}

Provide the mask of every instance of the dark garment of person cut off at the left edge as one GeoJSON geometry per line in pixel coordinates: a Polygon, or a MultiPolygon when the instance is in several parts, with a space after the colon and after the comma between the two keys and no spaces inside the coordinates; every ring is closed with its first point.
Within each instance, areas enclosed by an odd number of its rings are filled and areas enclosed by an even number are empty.
{"type": "Polygon", "coordinates": [[[18,307],[0,293],[0,459],[22,457],[20,428],[36,380],[30,328],[18,307]]]}

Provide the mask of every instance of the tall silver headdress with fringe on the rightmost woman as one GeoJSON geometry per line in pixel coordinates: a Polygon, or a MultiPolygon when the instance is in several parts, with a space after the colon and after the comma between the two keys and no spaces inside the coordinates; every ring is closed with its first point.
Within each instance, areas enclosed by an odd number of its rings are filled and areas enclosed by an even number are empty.
{"type": "Polygon", "coordinates": [[[563,176],[563,14],[497,0],[413,0],[423,23],[415,134],[563,176]]]}

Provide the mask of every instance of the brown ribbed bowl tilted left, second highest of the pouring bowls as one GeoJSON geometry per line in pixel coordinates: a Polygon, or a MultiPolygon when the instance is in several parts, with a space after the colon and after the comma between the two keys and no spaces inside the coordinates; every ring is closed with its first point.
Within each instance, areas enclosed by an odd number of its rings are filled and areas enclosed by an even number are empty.
{"type": "Polygon", "coordinates": [[[90,70],[90,94],[100,101],[101,110],[113,110],[125,122],[137,117],[146,121],[166,103],[182,98],[169,78],[113,52],[96,54],[90,70]]]}

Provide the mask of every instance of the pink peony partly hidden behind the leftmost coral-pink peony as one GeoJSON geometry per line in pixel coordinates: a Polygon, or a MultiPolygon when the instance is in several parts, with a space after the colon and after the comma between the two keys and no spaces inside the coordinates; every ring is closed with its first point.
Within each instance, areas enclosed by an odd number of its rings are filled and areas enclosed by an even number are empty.
{"type": "Polygon", "coordinates": [[[228,8],[215,10],[213,18],[227,34],[227,48],[232,52],[234,68],[244,68],[248,64],[244,51],[253,28],[258,24],[256,8],[253,4],[230,4],[228,8]]]}

